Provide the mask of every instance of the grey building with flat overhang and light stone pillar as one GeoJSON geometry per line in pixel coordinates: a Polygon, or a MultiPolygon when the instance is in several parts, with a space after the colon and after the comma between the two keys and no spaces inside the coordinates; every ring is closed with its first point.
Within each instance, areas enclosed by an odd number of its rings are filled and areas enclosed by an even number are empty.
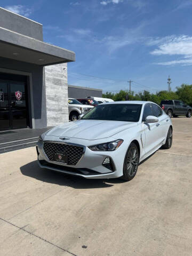
{"type": "Polygon", "coordinates": [[[43,27],[0,7],[0,130],[68,122],[67,62],[75,53],[43,42],[43,27]]]}

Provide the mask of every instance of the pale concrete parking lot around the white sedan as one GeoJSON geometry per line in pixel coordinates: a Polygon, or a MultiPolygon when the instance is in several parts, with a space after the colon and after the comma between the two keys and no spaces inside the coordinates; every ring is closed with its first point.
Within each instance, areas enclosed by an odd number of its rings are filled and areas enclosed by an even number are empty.
{"type": "Polygon", "coordinates": [[[191,255],[192,118],[136,177],[86,180],[42,170],[35,147],[0,155],[0,254],[191,255]]]}

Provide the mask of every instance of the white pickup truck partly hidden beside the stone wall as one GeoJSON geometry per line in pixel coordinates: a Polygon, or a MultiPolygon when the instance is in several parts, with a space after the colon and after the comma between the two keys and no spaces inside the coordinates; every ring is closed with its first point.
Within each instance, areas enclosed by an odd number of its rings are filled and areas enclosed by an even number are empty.
{"type": "Polygon", "coordinates": [[[93,106],[83,105],[76,99],[68,99],[69,106],[69,120],[76,121],[81,114],[85,114],[87,111],[93,108],[93,106]]]}

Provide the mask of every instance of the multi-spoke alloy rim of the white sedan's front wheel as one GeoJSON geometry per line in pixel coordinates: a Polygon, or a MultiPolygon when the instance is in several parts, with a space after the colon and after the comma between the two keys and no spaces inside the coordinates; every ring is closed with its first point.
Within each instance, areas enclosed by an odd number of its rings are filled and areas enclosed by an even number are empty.
{"type": "Polygon", "coordinates": [[[130,176],[133,176],[137,172],[137,166],[139,162],[139,155],[135,147],[131,147],[127,155],[127,172],[130,176]]]}

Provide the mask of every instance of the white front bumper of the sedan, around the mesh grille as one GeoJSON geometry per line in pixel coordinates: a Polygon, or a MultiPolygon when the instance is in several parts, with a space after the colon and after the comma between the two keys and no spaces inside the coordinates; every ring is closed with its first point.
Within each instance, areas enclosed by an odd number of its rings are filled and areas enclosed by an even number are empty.
{"type": "MultiPolygon", "coordinates": [[[[110,138],[111,140],[111,138],[110,138]]],[[[113,139],[112,139],[113,140],[113,139]]],[[[123,175],[123,162],[124,154],[122,152],[123,147],[119,147],[115,151],[92,151],[87,146],[84,146],[85,150],[82,158],[76,165],[66,165],[56,161],[50,161],[46,156],[43,149],[43,143],[45,141],[37,142],[37,155],[38,155],[38,164],[41,168],[50,169],[57,172],[62,172],[66,174],[76,175],[84,177],[87,179],[103,179],[103,178],[117,178],[123,175]],[[102,163],[106,159],[110,158],[111,163],[113,164],[112,170],[109,170],[107,167],[103,166],[102,163]]],[[[50,142],[50,140],[49,140],[50,142]]],[[[52,141],[53,143],[61,143],[61,141],[52,141]]],[[[75,145],[81,145],[82,143],[77,143],[75,145]]],[[[80,141],[79,141],[80,142],[80,141]]],[[[82,141],[81,141],[82,142],[82,141]]],[[[67,144],[67,142],[63,142],[67,144]]],[[[92,142],[88,142],[92,144],[92,142]]],[[[86,144],[86,143],[85,143],[86,144]]]]}

